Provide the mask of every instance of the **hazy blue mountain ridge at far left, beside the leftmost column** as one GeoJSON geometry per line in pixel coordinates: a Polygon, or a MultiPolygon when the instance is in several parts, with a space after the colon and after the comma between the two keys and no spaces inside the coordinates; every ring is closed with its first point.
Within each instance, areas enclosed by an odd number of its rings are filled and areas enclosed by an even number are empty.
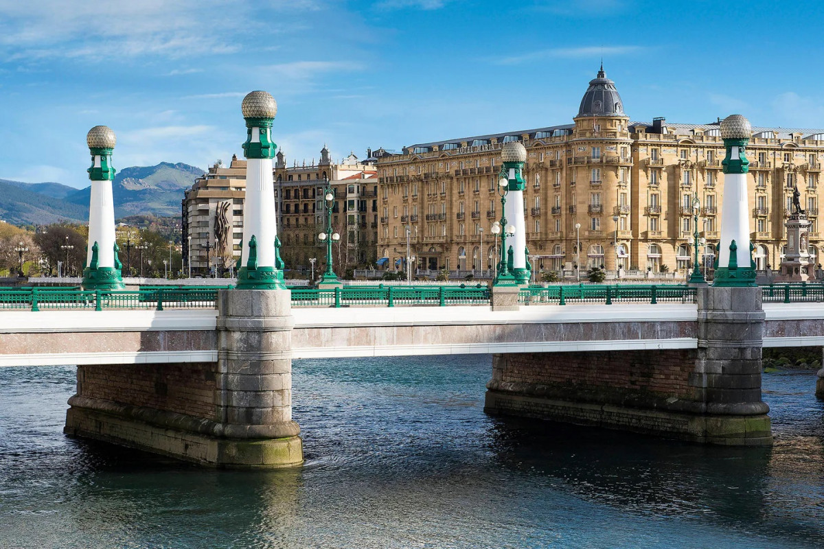
{"type": "Polygon", "coordinates": [[[0,179],[0,219],[13,225],[47,225],[59,221],[85,222],[89,204],[66,202],[76,188],[59,183],[28,184],[0,179]]]}

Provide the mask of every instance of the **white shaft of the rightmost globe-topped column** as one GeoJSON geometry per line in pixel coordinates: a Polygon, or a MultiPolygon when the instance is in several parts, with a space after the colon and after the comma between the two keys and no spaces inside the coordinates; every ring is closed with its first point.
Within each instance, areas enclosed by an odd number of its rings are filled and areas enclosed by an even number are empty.
{"type": "MultiPolygon", "coordinates": [[[[733,147],[733,158],[738,147],[733,147]]],[[[738,268],[750,266],[750,217],[747,201],[747,174],[724,174],[719,268],[729,264],[729,244],[735,240],[738,268]]]]}

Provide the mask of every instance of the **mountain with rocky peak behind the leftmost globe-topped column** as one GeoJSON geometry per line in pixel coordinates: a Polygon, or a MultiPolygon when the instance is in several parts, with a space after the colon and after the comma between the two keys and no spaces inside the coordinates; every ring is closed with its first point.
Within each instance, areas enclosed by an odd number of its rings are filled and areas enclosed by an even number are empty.
{"type": "MultiPolygon", "coordinates": [[[[115,174],[112,193],[115,217],[133,215],[180,216],[183,191],[204,174],[192,165],[161,162],[153,166],[133,166],[115,174]]],[[[91,187],[66,197],[73,204],[88,204],[91,187]]]]}

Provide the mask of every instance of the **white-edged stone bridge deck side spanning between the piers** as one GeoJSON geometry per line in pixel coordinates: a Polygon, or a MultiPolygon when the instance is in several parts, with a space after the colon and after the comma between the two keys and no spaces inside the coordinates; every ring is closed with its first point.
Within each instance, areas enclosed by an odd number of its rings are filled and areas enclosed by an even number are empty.
{"type": "MultiPolygon", "coordinates": [[[[764,304],[765,347],[824,345],[824,304],[764,304]]],[[[293,309],[293,357],[681,349],[693,304],[293,309]]],[[[216,361],[214,309],[0,315],[0,366],[216,361]],[[68,321],[68,322],[67,322],[68,321]],[[67,326],[70,324],[70,326],[67,326]]]]}

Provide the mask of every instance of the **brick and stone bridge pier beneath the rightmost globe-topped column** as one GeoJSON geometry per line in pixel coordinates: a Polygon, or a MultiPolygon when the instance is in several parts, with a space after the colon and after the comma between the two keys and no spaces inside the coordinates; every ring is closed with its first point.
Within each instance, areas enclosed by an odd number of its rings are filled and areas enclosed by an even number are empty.
{"type": "MultiPolygon", "coordinates": [[[[492,414],[711,444],[772,444],[757,287],[698,288],[697,349],[498,354],[492,414]]],[[[819,380],[819,386],[822,385],[819,380]]]]}

